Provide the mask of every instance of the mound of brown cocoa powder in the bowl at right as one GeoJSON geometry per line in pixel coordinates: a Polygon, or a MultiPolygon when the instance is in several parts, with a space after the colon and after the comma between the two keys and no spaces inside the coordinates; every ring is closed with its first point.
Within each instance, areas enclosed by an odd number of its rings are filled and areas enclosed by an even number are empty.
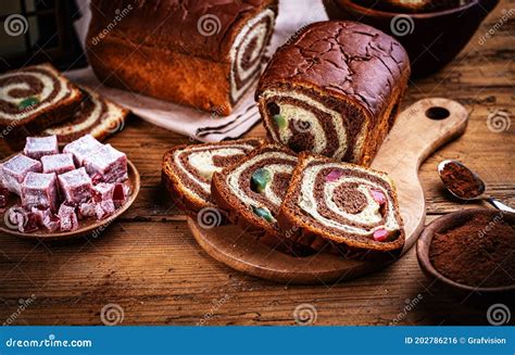
{"type": "Polygon", "coordinates": [[[462,226],[436,233],[429,248],[432,266],[470,287],[515,284],[515,228],[503,218],[476,215],[462,226]]]}

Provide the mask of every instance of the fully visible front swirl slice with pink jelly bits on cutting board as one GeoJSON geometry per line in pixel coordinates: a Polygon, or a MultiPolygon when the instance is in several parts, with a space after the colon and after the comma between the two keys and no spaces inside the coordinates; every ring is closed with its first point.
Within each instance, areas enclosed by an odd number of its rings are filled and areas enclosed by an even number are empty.
{"type": "Polygon", "coordinates": [[[301,153],[292,176],[277,219],[293,240],[344,257],[400,254],[404,230],[386,174],[301,153]]]}

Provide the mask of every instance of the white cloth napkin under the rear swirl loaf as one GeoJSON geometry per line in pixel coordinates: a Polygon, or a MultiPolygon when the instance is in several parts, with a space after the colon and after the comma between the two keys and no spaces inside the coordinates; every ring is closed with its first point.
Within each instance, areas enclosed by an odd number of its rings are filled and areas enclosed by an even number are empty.
{"type": "MultiPolygon", "coordinates": [[[[83,16],[75,23],[75,28],[84,45],[91,18],[89,1],[77,0],[77,5],[83,16]]],[[[277,47],[285,43],[290,36],[303,26],[324,20],[327,20],[327,15],[319,0],[280,0],[279,15],[272,42],[267,49],[267,55],[271,56],[277,47]]],[[[108,99],[131,110],[135,114],[153,125],[200,141],[212,142],[238,138],[261,119],[254,102],[255,86],[247,91],[230,116],[222,117],[196,109],[103,86],[95,77],[90,67],[70,71],[65,75],[74,83],[89,86],[108,99]]]]}

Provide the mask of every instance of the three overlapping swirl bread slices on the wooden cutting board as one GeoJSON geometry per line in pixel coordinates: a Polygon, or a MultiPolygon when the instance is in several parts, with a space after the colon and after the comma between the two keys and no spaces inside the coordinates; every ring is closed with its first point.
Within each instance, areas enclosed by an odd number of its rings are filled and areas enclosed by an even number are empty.
{"type": "Polygon", "coordinates": [[[176,147],[162,177],[202,228],[230,221],[284,253],[397,257],[404,245],[392,181],[355,164],[241,139],[176,147]]]}

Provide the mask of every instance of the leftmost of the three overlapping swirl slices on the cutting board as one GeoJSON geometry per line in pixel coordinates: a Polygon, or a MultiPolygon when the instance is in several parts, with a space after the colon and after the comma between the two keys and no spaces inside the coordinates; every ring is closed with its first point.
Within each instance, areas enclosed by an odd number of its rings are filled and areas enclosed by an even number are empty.
{"type": "Polygon", "coordinates": [[[162,179],[177,206],[190,214],[214,207],[211,199],[213,173],[238,163],[264,143],[261,139],[240,139],[218,143],[177,145],[163,156],[162,179]]]}

